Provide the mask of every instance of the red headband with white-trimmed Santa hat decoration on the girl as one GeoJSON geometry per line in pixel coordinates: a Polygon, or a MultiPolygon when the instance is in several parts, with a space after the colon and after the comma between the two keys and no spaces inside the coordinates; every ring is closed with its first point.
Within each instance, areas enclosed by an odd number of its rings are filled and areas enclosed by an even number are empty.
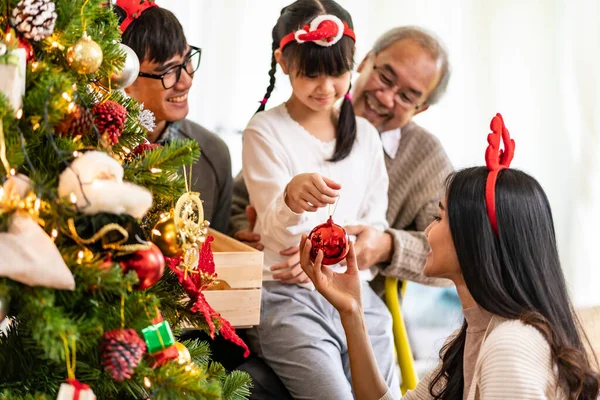
{"type": "Polygon", "coordinates": [[[348,24],[342,22],[335,15],[319,15],[310,24],[304,25],[302,29],[288,33],[279,42],[279,50],[292,41],[298,43],[312,42],[320,46],[329,47],[336,44],[342,36],[349,36],[356,42],[354,31],[348,24]]]}

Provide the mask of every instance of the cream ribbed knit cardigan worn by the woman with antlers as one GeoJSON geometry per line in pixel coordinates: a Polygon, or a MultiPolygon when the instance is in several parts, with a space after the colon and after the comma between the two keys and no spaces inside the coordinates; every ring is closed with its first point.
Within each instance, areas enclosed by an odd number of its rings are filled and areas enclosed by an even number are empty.
{"type": "MultiPolygon", "coordinates": [[[[403,400],[431,400],[429,383],[437,368],[403,400]]],[[[557,385],[550,346],[541,333],[519,320],[494,317],[481,344],[468,400],[566,400],[557,385]]],[[[394,400],[389,392],[380,400],[394,400]]]]}

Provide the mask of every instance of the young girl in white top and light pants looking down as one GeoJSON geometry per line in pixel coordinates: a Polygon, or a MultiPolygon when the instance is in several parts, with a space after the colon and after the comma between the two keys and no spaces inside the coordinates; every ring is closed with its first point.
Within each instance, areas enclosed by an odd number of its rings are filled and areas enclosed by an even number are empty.
{"type": "MultiPolygon", "coordinates": [[[[273,28],[271,83],[244,131],[244,180],[258,214],[255,231],[265,245],[261,323],[248,337],[295,399],[351,399],[347,347],[338,314],[308,278],[274,280],[269,267],[284,260],[280,250],[331,213],[340,225],[387,226],[388,178],[379,135],[355,117],[349,98],[354,48],[352,19],[334,1],[299,0],[285,7],[273,28]],[[293,93],[263,111],[278,64],[293,93]],[[338,111],[334,103],[341,98],[338,111]]],[[[391,318],[367,284],[373,276],[361,271],[362,306],[379,368],[397,392],[391,318]]]]}

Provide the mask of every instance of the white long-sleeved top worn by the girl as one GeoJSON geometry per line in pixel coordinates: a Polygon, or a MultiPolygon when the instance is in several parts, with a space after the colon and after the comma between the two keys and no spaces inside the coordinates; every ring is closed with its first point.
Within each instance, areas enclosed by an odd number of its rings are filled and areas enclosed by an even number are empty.
{"type": "MultiPolygon", "coordinates": [[[[335,140],[323,142],[311,135],[290,117],[285,104],[256,114],[246,127],[243,174],[250,203],[258,214],[254,232],[261,235],[265,246],[264,280],[273,279],[269,267],[287,259],[279,252],[297,246],[301,235],[326,222],[334,209],[292,212],[285,204],[284,189],[298,174],[316,172],[342,185],[333,215],[338,225],[388,227],[388,176],[379,134],[364,118],[357,117],[356,125],[352,152],[338,162],[327,161],[335,150],[335,140]]],[[[361,272],[368,279],[376,269],[361,272]]]]}

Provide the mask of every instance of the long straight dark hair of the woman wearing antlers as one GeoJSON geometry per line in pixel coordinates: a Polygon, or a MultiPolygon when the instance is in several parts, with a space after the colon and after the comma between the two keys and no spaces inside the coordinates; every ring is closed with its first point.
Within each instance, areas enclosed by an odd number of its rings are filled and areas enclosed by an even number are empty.
{"type": "MultiPolygon", "coordinates": [[[[485,310],[520,319],[544,336],[569,399],[596,400],[600,379],[567,294],[546,194],[526,173],[501,171],[496,236],[485,205],[487,176],[485,167],[468,168],[446,182],[446,213],[467,288],[485,310]]],[[[440,351],[442,366],[429,386],[435,399],[463,396],[466,328],[465,321],[440,351]]]]}

